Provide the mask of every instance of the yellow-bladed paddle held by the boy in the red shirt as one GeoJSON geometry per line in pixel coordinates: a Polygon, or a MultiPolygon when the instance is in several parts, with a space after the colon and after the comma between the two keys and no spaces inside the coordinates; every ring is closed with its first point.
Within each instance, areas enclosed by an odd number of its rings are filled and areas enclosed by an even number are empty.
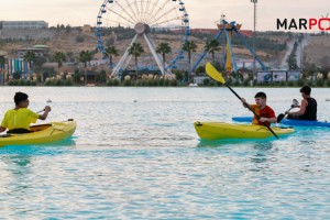
{"type": "MultiPolygon", "coordinates": [[[[221,84],[223,84],[224,86],[227,86],[240,100],[242,99],[228,84],[226,84],[224,78],[222,77],[222,75],[208,62],[206,64],[206,73],[216,81],[219,81],[221,84]]],[[[258,120],[260,117],[253,111],[253,109],[251,109],[251,107],[249,105],[244,105],[249,108],[250,111],[252,111],[252,113],[255,116],[255,118],[258,120]]],[[[278,139],[277,134],[273,131],[273,129],[271,127],[268,127],[266,123],[263,122],[263,124],[272,132],[272,134],[274,136],[276,136],[276,139],[278,139]]]]}

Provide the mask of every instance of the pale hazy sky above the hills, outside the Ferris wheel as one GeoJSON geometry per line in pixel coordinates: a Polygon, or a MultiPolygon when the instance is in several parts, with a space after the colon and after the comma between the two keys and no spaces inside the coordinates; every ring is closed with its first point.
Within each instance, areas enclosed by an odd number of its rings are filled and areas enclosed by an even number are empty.
{"type": "MultiPolygon", "coordinates": [[[[123,0],[121,0],[123,1],[123,0]]],[[[156,0],[152,0],[156,1],[156,0]]],[[[242,23],[242,30],[253,30],[251,0],[183,0],[191,28],[216,28],[226,14],[228,21],[242,23]]],[[[1,0],[0,21],[43,20],[50,26],[96,25],[103,0],[1,0]]],[[[329,13],[329,0],[258,0],[257,31],[276,31],[276,20],[322,18],[329,13]]]]}

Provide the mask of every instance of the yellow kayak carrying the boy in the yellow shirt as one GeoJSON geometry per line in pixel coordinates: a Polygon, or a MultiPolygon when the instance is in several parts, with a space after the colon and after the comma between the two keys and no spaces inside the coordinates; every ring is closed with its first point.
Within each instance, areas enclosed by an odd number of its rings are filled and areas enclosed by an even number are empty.
{"type": "Polygon", "coordinates": [[[76,127],[77,123],[72,119],[63,122],[32,125],[30,127],[31,133],[0,135],[0,146],[46,144],[62,141],[72,136],[76,127]]]}

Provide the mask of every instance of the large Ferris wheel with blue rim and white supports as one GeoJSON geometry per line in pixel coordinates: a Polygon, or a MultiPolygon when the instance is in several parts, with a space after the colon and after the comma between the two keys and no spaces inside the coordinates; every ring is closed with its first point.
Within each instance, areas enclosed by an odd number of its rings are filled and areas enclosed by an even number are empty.
{"type": "Polygon", "coordinates": [[[189,15],[183,0],[106,0],[99,10],[96,28],[98,50],[103,54],[106,54],[106,36],[102,36],[102,30],[118,26],[134,30],[135,33],[112,69],[116,77],[120,77],[130,64],[132,55],[129,54],[129,48],[139,41],[146,43],[162,75],[172,75],[170,69],[176,68],[176,63],[184,58],[183,45],[189,38],[190,28],[189,15]],[[180,42],[168,64],[163,63],[155,50],[153,33],[157,30],[173,31],[180,42]]]}

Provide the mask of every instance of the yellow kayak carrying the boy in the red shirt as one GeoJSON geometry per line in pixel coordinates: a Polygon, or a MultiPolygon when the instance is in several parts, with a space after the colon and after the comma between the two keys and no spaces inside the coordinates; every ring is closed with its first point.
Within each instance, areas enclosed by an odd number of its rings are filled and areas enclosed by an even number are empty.
{"type": "MultiPolygon", "coordinates": [[[[200,139],[267,139],[273,136],[266,127],[254,124],[232,124],[224,122],[195,122],[195,130],[200,139]]],[[[272,128],[279,136],[295,132],[293,128],[272,128]]]]}

